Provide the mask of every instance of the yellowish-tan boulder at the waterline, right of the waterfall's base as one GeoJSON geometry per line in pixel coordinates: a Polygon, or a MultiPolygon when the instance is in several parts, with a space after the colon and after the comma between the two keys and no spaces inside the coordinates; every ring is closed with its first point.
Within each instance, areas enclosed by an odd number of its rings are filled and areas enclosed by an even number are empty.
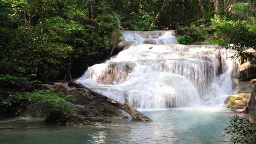
{"type": "Polygon", "coordinates": [[[241,93],[230,95],[224,103],[228,105],[228,108],[243,109],[248,105],[250,99],[250,93],[241,93]]]}

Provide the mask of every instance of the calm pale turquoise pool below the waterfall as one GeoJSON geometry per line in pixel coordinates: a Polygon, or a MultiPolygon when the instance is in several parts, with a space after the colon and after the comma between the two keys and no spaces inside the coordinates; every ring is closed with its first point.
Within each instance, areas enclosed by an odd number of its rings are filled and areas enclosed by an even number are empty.
{"type": "Polygon", "coordinates": [[[0,143],[230,143],[223,128],[234,113],[227,110],[169,109],[144,111],[152,123],[122,120],[124,125],[65,127],[0,122],[0,143]],[[3,129],[3,127],[12,129],[3,129]]]}

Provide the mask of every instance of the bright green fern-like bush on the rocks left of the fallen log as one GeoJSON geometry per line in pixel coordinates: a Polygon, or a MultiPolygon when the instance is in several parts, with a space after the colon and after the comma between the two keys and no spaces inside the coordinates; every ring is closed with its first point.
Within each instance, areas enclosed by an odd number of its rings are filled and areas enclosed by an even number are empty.
{"type": "Polygon", "coordinates": [[[53,111],[60,111],[65,115],[73,113],[74,108],[66,102],[70,95],[59,95],[49,90],[36,90],[25,95],[30,103],[34,103],[34,113],[37,113],[37,116],[48,116],[53,111]]]}

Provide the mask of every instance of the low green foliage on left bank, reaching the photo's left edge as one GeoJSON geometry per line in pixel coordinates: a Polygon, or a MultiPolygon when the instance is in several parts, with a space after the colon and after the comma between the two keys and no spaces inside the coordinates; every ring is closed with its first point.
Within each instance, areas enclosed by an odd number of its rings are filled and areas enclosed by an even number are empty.
{"type": "Polygon", "coordinates": [[[60,111],[68,115],[74,108],[67,104],[70,95],[59,95],[49,90],[35,90],[34,92],[8,92],[0,97],[1,113],[20,115],[29,106],[34,116],[44,117],[53,111],[60,111]]]}

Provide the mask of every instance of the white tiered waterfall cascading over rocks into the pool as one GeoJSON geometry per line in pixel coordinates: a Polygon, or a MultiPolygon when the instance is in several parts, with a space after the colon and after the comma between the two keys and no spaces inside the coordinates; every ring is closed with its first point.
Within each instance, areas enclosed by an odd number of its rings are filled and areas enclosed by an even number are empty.
{"type": "Polygon", "coordinates": [[[123,37],[133,45],[77,82],[142,109],[219,106],[233,92],[234,51],[179,45],[174,31],[123,31],[123,37]]]}

